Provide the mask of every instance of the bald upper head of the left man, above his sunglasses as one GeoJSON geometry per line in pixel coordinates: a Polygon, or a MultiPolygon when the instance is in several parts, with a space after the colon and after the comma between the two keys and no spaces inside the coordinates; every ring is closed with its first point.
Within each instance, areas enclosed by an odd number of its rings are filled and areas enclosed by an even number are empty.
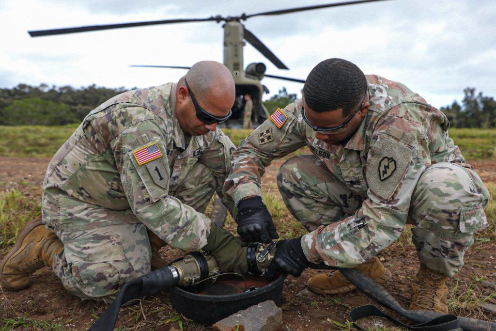
{"type": "MultiPolygon", "coordinates": [[[[196,100],[201,103],[209,102],[210,98],[234,98],[236,89],[234,79],[229,69],[215,61],[201,61],[194,64],[186,73],[189,87],[196,100]]],[[[184,78],[181,79],[184,84],[184,78]]]]}

